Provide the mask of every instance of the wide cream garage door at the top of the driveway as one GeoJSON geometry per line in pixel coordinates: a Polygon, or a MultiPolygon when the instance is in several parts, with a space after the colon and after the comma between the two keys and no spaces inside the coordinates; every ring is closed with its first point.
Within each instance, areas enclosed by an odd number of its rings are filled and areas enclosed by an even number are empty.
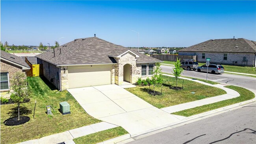
{"type": "Polygon", "coordinates": [[[111,65],[68,66],[69,88],[111,84],[111,65]]]}

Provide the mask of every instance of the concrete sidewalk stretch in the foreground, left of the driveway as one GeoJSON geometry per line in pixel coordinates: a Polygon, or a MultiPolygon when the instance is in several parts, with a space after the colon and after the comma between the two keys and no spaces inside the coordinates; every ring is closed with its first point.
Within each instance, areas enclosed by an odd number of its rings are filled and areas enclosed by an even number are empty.
{"type": "Polygon", "coordinates": [[[26,142],[21,142],[20,144],[57,144],[60,142],[65,142],[65,144],[75,144],[74,138],[82,137],[99,131],[104,131],[106,129],[111,129],[118,127],[114,124],[109,124],[107,122],[99,122],[89,126],[83,126],[76,129],[71,129],[69,131],[64,131],[62,133],[57,133],[54,135],[49,135],[39,139],[28,140],[26,142]]]}

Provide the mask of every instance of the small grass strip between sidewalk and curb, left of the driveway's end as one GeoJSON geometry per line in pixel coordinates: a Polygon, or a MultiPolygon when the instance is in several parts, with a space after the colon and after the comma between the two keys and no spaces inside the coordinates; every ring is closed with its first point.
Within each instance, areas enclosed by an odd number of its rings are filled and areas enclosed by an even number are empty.
{"type": "Polygon", "coordinates": [[[119,137],[125,134],[128,134],[125,129],[122,127],[115,127],[105,131],[100,131],[98,133],[92,133],[83,137],[74,138],[73,140],[76,144],[97,144],[99,142],[104,142],[105,140],[109,140],[111,138],[119,137]]]}

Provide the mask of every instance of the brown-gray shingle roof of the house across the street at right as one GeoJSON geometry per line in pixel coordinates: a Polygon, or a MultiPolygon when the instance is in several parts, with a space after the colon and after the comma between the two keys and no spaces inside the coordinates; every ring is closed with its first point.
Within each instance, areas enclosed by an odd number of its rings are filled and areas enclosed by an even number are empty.
{"type": "Polygon", "coordinates": [[[237,53],[255,53],[256,42],[247,39],[214,39],[208,40],[187,48],[179,52],[237,52],[237,53]]]}

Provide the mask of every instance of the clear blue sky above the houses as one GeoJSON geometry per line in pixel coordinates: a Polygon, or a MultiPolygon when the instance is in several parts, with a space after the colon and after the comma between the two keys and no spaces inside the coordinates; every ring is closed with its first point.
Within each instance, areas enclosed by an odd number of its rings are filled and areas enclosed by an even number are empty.
{"type": "Polygon", "coordinates": [[[256,1],[2,1],[1,41],[54,45],[96,37],[122,46],[256,41],[256,1]]]}

